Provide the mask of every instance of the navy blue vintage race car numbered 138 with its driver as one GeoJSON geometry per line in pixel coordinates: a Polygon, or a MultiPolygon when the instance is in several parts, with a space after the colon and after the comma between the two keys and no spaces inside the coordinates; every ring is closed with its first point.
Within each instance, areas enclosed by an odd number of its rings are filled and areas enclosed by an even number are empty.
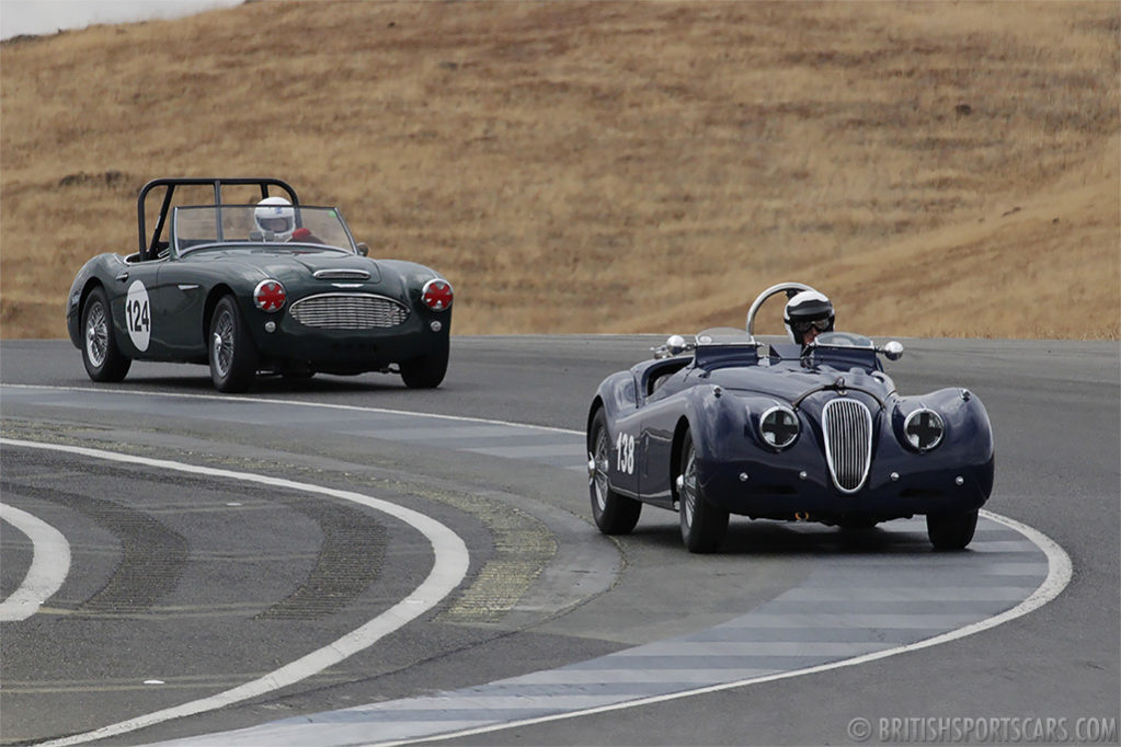
{"type": "Polygon", "coordinates": [[[899,360],[896,342],[877,348],[837,332],[805,346],[756,339],[767,298],[806,290],[773,286],[745,330],[675,335],[652,361],[600,384],[586,432],[600,531],[630,532],[649,503],[679,513],[693,552],[720,545],[729,514],[843,527],[925,515],[935,548],[970,543],[994,474],[981,400],[960,387],[900,396],[878,357],[899,360]]]}

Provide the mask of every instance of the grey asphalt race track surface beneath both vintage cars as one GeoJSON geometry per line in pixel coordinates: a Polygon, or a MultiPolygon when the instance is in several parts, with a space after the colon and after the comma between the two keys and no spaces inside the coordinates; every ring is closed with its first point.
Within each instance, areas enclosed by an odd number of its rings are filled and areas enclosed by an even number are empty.
{"type": "MultiPolygon", "coordinates": [[[[124,384],[94,387],[67,344],[4,343],[7,438],[263,471],[289,480],[293,495],[239,487],[231,501],[222,485],[230,478],[169,488],[166,468],[106,470],[76,448],[46,458],[6,443],[4,504],[49,517],[72,538],[74,567],[55,598],[64,604],[4,623],[0,738],[85,732],[231,691],[248,673],[270,676],[296,659],[288,654],[341,639],[332,636],[410,599],[435,557],[417,552],[416,530],[363,514],[368,536],[383,540],[367,543],[378,545],[369,560],[382,572],[332,575],[324,558],[369,547],[335,536],[354,516],[332,516],[330,501],[309,508],[298,483],[362,486],[355,492],[442,522],[471,555],[458,596],[297,684],[113,744],[245,727],[258,730],[242,732],[241,744],[354,744],[495,723],[503,728],[445,741],[844,744],[860,740],[854,719],[868,720],[869,741],[930,741],[914,730],[978,719],[1006,729],[1013,719],[1017,728],[1038,721],[1055,737],[1060,726],[1069,740],[1080,725],[1104,723],[1083,728],[1082,740],[1117,740],[1115,344],[905,340],[908,355],[890,366],[902,392],[969,386],[995,424],[988,507],[999,519],[982,523],[971,552],[932,553],[921,523],[852,538],[742,522],[721,555],[697,558],[680,549],[666,512],[647,510],[618,544],[586,524],[584,408],[603,375],[654,342],[455,338],[452,372],[436,392],[406,391],[387,376],[317,377],[265,381],[232,399],[213,396],[204,368],[137,364],[124,384]],[[185,493],[168,499],[174,489],[185,493]],[[242,511],[253,502],[260,511],[242,511]],[[207,505],[232,503],[244,523],[203,519],[214,513],[207,505]],[[121,506],[129,521],[113,519],[121,506]],[[250,534],[259,547],[249,547],[250,534]],[[1047,538],[1060,548],[1050,562],[1040,550],[1047,538]],[[142,568],[146,552],[174,578],[151,572],[147,580],[159,582],[145,583],[121,572],[142,568]],[[1067,557],[1064,586],[1048,571],[1067,557]],[[194,568],[205,564],[200,558],[238,561],[230,564],[243,568],[226,580],[242,598],[223,597],[194,568]],[[290,566],[287,578],[277,578],[278,558],[290,566]],[[317,608],[331,594],[298,583],[307,578],[342,601],[317,608]],[[1037,594],[1048,583],[1060,590],[1049,601],[1037,594]],[[1046,604],[1020,607],[1032,595],[1046,604]],[[1012,617],[1017,609],[1027,614],[1012,617]],[[1002,615],[1011,619],[986,627],[1002,615]],[[154,620],[164,629],[152,631],[154,620]],[[972,634],[957,637],[962,628],[972,634]],[[130,645],[138,638],[149,645],[130,645]],[[132,661],[122,664],[122,654],[132,661]],[[271,669],[262,664],[270,656],[271,669]],[[846,661],[859,663],[836,666],[846,661]],[[143,685],[139,671],[156,666],[180,679],[143,685]],[[296,718],[278,722],[285,716],[296,718]]],[[[0,531],[8,599],[33,566],[31,543],[8,516],[0,531]]]]}

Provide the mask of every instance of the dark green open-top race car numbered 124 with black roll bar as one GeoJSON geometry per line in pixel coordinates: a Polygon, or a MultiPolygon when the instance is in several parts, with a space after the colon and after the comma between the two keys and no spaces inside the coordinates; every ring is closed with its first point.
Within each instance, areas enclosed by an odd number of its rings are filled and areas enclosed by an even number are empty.
{"type": "Polygon", "coordinates": [[[367,256],[339,208],[302,205],[279,179],[168,178],[140,189],[137,217],[139,251],[93,258],[71,287],[66,326],[90,379],[120,381],[142,360],[209,364],[223,392],[258,373],[444,380],[451,283],[367,256]]]}

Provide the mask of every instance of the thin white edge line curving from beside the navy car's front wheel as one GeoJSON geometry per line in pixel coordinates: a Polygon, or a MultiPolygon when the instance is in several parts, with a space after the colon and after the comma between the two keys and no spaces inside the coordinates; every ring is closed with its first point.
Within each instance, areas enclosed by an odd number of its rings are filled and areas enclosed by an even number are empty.
{"type": "Polygon", "coordinates": [[[502,731],[506,729],[516,729],[519,727],[534,726],[537,723],[547,723],[549,721],[560,721],[564,719],[581,718],[583,716],[594,716],[596,713],[606,713],[610,711],[618,711],[624,708],[638,708],[641,706],[651,706],[656,703],[664,703],[671,700],[679,700],[682,698],[692,698],[694,695],[704,695],[711,692],[720,692],[723,690],[732,690],[734,688],[744,688],[753,684],[762,684],[765,682],[775,682],[776,680],[788,680],[795,676],[803,676],[806,674],[817,674],[818,672],[828,672],[830,670],[842,669],[845,666],[855,666],[858,664],[865,664],[868,662],[874,662],[880,659],[887,659],[889,656],[897,656],[899,654],[905,654],[911,651],[918,651],[920,648],[929,648],[930,646],[937,646],[943,643],[949,643],[951,641],[957,641],[966,636],[974,635],[975,633],[981,633],[982,631],[988,631],[994,628],[998,625],[1003,625],[1009,620],[1013,620],[1017,617],[1022,617],[1028,613],[1031,613],[1039,607],[1043,607],[1048,601],[1062,594],[1063,589],[1071,582],[1072,566],[1071,558],[1066,554],[1066,551],[1049,536],[1039,532],[1027,524],[1021,524],[1020,522],[1009,519],[1008,516],[1001,516],[1000,514],[994,514],[989,511],[981,511],[981,515],[985,519],[992,520],[1000,524],[1003,524],[1012,530],[1016,530],[1023,536],[1028,539],[1029,542],[1038,547],[1047,555],[1047,578],[1037,588],[1031,596],[1021,601],[1016,607],[995,615],[988,619],[980,620],[972,625],[966,625],[965,627],[958,628],[956,631],[949,631],[948,633],[943,633],[925,641],[918,641],[916,643],[906,644],[902,646],[896,646],[895,648],[888,648],[884,651],[877,651],[870,654],[863,654],[861,656],[854,656],[852,659],[846,659],[840,662],[830,662],[828,664],[819,664],[816,666],[808,666],[800,670],[791,670],[789,672],[778,672],[776,674],[768,674],[758,678],[751,678],[747,680],[739,680],[735,682],[726,682],[723,684],[708,685],[704,688],[696,688],[693,690],[683,690],[682,692],[669,693],[666,695],[654,695],[649,698],[638,698],[634,700],[628,700],[621,703],[611,703],[608,706],[597,706],[595,708],[586,708],[582,710],[568,711],[566,713],[554,713],[552,716],[543,716],[531,719],[522,719],[519,721],[507,721],[503,723],[493,723],[489,726],[475,727],[470,729],[461,729],[458,731],[445,731],[443,734],[430,735],[426,737],[398,739],[391,741],[370,741],[362,743],[363,747],[396,747],[397,745],[415,745],[426,741],[435,741],[438,739],[455,739],[457,737],[470,737],[481,734],[490,734],[493,731],[502,731]]]}

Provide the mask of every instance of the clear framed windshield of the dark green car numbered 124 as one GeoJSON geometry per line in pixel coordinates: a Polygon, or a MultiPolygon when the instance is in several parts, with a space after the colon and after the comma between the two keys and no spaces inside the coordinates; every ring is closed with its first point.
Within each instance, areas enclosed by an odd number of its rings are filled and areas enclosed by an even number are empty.
{"type": "Polygon", "coordinates": [[[286,220],[276,221],[259,216],[254,205],[176,207],[172,242],[179,254],[207,244],[239,242],[245,243],[247,249],[261,243],[293,243],[354,252],[354,240],[336,208],[294,205],[282,209],[286,220]]]}

